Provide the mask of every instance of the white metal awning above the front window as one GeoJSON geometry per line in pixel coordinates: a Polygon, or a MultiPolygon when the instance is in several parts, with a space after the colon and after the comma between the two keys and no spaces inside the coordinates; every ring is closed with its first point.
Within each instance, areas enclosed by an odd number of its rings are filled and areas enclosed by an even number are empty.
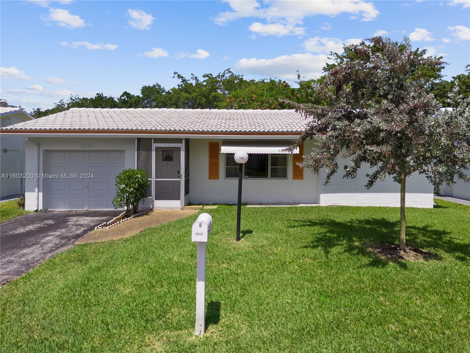
{"type": "MultiPolygon", "coordinates": [[[[271,153],[271,154],[290,154],[283,151],[294,143],[292,141],[224,141],[220,147],[220,153],[235,153],[240,150],[247,153],[271,153]]],[[[298,153],[298,147],[292,153],[298,153]]]]}

